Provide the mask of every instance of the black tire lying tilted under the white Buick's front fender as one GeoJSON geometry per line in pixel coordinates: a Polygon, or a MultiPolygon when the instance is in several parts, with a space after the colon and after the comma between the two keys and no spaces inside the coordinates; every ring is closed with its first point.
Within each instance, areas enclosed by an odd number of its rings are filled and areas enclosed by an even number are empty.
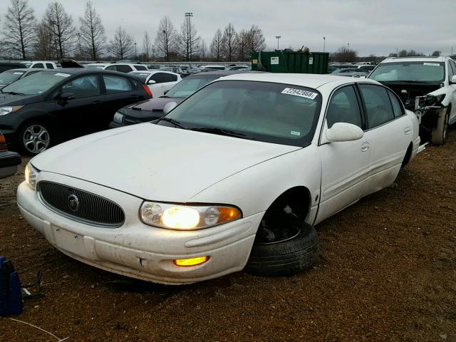
{"type": "Polygon", "coordinates": [[[244,271],[255,276],[290,276],[314,266],[318,259],[315,228],[299,219],[287,219],[281,224],[291,225],[289,227],[296,229],[296,234],[274,242],[255,239],[244,271]]]}

